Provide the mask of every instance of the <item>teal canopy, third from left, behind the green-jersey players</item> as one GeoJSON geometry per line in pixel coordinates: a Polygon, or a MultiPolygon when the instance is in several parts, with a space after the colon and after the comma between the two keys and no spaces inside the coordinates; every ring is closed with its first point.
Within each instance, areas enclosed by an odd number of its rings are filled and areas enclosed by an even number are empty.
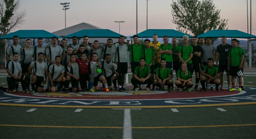
{"type": "Polygon", "coordinates": [[[165,35],[167,35],[169,38],[182,38],[184,35],[187,35],[188,37],[193,37],[191,35],[172,29],[148,29],[138,33],[137,35],[139,36],[139,38],[151,38],[154,34],[157,34],[159,38],[165,35]]]}

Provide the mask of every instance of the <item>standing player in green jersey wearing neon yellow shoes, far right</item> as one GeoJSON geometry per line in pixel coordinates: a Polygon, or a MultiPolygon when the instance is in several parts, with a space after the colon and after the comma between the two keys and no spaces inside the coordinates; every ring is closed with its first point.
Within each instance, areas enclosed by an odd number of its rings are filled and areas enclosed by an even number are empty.
{"type": "Polygon", "coordinates": [[[231,88],[229,91],[235,91],[235,76],[238,76],[239,78],[239,91],[242,91],[242,68],[243,68],[243,62],[244,62],[244,52],[243,49],[240,47],[237,47],[237,39],[231,40],[231,45],[233,48],[229,50],[228,53],[228,70],[230,70],[229,75],[231,75],[231,82],[233,88],[231,88]]]}

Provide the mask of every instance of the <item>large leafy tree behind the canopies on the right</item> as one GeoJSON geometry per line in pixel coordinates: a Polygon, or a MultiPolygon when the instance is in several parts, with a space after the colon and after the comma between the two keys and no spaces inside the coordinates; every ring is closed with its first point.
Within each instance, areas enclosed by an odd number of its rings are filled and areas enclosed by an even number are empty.
{"type": "Polygon", "coordinates": [[[176,29],[197,36],[210,30],[228,29],[212,0],[173,0],[171,14],[176,29]]]}

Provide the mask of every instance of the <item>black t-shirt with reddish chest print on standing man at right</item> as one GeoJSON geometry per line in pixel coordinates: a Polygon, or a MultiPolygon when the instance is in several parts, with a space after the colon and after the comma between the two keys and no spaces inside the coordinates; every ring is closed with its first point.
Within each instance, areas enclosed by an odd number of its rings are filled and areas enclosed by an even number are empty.
{"type": "Polygon", "coordinates": [[[226,44],[224,46],[222,44],[220,44],[217,46],[216,52],[219,52],[219,64],[220,65],[228,64],[226,57],[228,57],[228,52],[231,48],[232,48],[232,46],[229,44],[226,44]]]}

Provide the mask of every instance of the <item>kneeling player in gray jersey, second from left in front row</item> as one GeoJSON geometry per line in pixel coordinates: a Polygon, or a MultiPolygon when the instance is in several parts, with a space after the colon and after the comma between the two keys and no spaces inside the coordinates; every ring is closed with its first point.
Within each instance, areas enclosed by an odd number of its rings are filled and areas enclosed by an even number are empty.
{"type": "Polygon", "coordinates": [[[47,81],[47,64],[43,62],[44,54],[42,52],[39,52],[37,55],[37,60],[32,62],[29,66],[29,72],[31,73],[31,87],[32,91],[42,92],[44,84],[46,84],[47,81]],[[33,69],[33,72],[32,72],[33,69]],[[44,78],[45,76],[45,78],[44,78]],[[35,85],[37,86],[37,89],[35,89],[35,85]]]}

